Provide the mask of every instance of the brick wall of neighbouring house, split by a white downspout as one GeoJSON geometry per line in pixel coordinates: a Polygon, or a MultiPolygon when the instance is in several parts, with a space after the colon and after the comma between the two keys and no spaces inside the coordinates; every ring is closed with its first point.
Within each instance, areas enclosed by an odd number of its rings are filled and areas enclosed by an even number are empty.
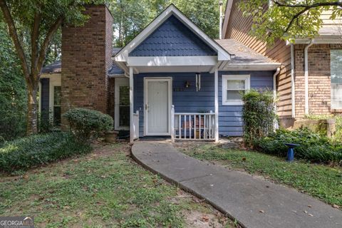
{"type": "MultiPolygon", "coordinates": [[[[304,48],[295,45],[296,119],[305,115],[304,48]]],[[[341,45],[314,44],[309,48],[309,114],[331,113],[330,49],[341,45]]]]}

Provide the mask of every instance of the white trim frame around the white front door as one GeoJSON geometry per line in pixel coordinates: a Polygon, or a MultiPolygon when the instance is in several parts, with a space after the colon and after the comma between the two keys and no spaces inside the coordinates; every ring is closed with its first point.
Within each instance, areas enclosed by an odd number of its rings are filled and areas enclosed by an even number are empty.
{"type": "Polygon", "coordinates": [[[171,108],[172,108],[172,78],[171,77],[145,77],[144,78],[144,136],[157,136],[157,135],[171,135],[171,108]],[[148,81],[167,81],[168,85],[168,132],[167,133],[149,133],[148,132],[148,115],[146,111],[146,106],[148,103],[148,90],[147,90],[147,82],[148,81]]]}

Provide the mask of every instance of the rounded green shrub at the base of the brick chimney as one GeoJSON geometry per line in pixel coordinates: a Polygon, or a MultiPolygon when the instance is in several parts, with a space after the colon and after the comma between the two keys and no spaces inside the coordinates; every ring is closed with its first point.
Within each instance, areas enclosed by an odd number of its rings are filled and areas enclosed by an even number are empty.
{"type": "Polygon", "coordinates": [[[96,110],[74,108],[63,117],[68,120],[71,132],[79,142],[88,142],[93,135],[113,129],[113,118],[96,110]]]}

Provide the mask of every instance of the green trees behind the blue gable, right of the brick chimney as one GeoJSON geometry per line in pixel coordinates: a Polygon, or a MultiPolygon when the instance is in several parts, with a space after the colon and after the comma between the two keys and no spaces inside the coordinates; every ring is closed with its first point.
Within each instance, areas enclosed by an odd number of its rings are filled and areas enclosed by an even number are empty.
{"type": "Polygon", "coordinates": [[[114,16],[115,46],[125,46],[170,4],[209,36],[218,38],[219,0],[113,0],[108,1],[108,6],[114,16]]]}

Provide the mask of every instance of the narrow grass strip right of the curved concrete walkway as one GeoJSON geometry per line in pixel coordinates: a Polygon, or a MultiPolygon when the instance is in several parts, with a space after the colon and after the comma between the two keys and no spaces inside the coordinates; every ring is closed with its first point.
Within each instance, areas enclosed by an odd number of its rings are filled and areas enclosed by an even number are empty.
{"type": "Polygon", "coordinates": [[[185,144],[183,151],[199,160],[209,160],[231,169],[246,170],[277,183],[295,187],[329,204],[342,207],[342,169],[285,158],[261,152],[229,150],[217,145],[185,144]]]}

